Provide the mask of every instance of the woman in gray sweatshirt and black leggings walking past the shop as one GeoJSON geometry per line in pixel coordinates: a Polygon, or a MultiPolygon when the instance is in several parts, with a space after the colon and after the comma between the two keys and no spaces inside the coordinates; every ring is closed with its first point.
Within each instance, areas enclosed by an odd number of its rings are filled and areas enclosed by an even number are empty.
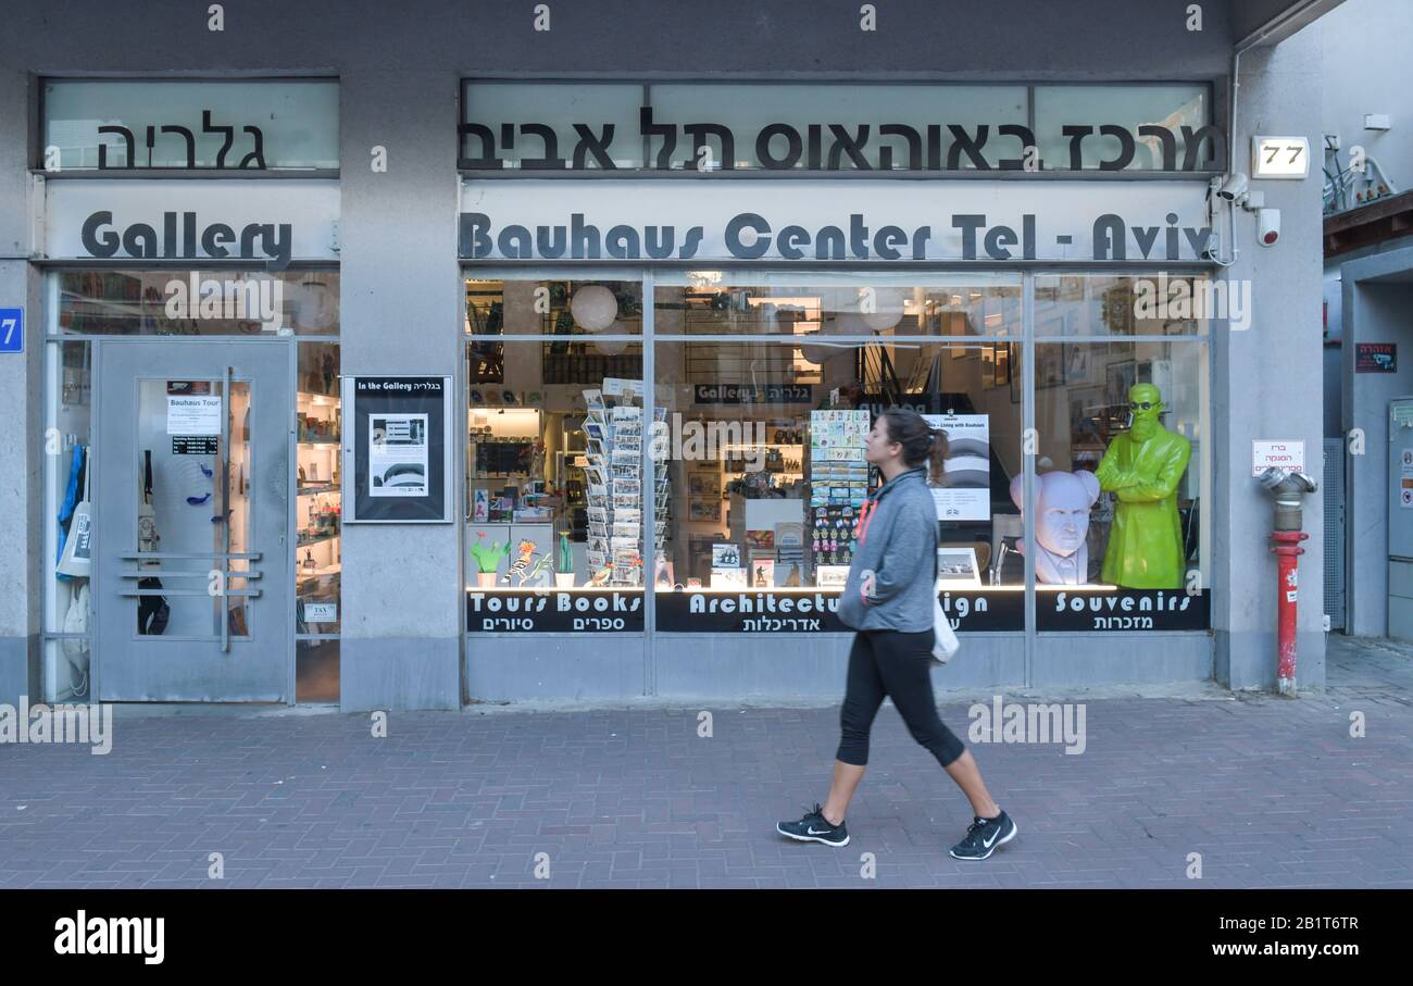
{"type": "Polygon", "coordinates": [[[914,411],[883,411],[869,432],[866,458],[883,487],[859,516],[858,550],[839,598],[839,620],[858,633],[849,651],[848,691],[839,715],[842,739],[824,807],[780,835],[827,846],[849,845],[849,801],[869,761],[869,729],[883,696],[893,699],[909,732],[937,757],[971,801],[975,821],[951,849],[957,859],[986,859],[1016,838],[1016,824],[981,780],[969,750],[937,715],[933,699],[933,600],[937,593],[937,509],[928,468],[941,476],[947,436],[914,411]]]}

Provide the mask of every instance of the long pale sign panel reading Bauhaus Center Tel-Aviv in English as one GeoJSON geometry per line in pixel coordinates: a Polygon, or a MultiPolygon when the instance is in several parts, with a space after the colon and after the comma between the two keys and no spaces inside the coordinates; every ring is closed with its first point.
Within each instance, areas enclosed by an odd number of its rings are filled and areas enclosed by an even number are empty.
{"type": "Polygon", "coordinates": [[[465,260],[1197,261],[1194,182],[463,182],[465,260]]]}

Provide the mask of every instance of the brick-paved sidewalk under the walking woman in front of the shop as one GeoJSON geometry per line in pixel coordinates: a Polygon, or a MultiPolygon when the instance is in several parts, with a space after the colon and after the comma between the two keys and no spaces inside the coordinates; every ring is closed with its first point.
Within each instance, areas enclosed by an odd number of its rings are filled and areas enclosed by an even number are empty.
{"type": "MultiPolygon", "coordinates": [[[[211,886],[219,852],[230,887],[1413,887],[1413,650],[1331,637],[1330,682],[1077,698],[1081,756],[972,746],[1020,825],[982,863],[947,856],[966,802],[892,705],[845,849],[773,832],[824,800],[836,706],[394,713],[386,739],[366,715],[124,708],[107,756],[0,746],[0,886],[211,886]]],[[[941,699],[964,737],[974,701],[941,699]]]]}

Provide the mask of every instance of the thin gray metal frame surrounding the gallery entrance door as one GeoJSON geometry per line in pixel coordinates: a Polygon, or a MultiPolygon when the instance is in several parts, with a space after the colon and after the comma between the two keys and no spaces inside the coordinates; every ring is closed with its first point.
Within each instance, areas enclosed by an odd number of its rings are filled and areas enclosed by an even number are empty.
{"type": "MultiPolygon", "coordinates": [[[[119,336],[119,338],[106,338],[106,336],[97,336],[97,338],[90,338],[89,343],[92,346],[90,366],[92,366],[92,373],[93,373],[93,384],[92,384],[92,387],[93,387],[93,408],[95,408],[95,412],[97,412],[99,408],[102,407],[102,400],[103,400],[102,396],[112,386],[107,380],[105,380],[105,372],[103,372],[103,352],[106,352],[109,348],[114,348],[114,346],[123,346],[123,348],[147,346],[147,348],[153,348],[155,350],[160,350],[162,348],[172,346],[172,345],[181,346],[182,349],[187,349],[187,348],[199,348],[199,346],[203,346],[203,345],[213,345],[213,346],[261,346],[261,348],[264,348],[264,349],[267,349],[270,352],[281,352],[283,360],[284,360],[284,390],[285,390],[285,396],[288,398],[285,401],[285,407],[283,407],[281,410],[277,411],[277,414],[280,414],[280,418],[281,418],[281,422],[283,422],[283,444],[284,444],[283,452],[284,452],[284,461],[285,461],[285,475],[284,475],[284,483],[285,483],[285,490],[287,490],[285,492],[285,518],[284,518],[284,521],[285,521],[285,545],[284,545],[285,551],[284,551],[284,558],[281,558],[281,559],[271,559],[271,564],[268,564],[268,565],[264,566],[264,569],[263,569],[264,571],[264,578],[261,579],[261,582],[266,582],[266,579],[283,579],[283,585],[287,588],[287,590],[285,590],[285,605],[283,607],[271,609],[270,613],[267,613],[267,614],[263,616],[263,619],[278,619],[283,623],[283,630],[278,634],[276,634],[278,637],[278,643],[276,644],[276,647],[281,653],[283,661],[284,661],[284,678],[283,678],[284,679],[284,699],[283,699],[283,702],[280,702],[280,701],[266,702],[266,701],[259,701],[259,699],[229,699],[227,702],[229,703],[240,703],[240,705],[271,705],[271,703],[283,703],[285,706],[295,705],[295,677],[297,677],[295,653],[297,653],[297,648],[295,648],[295,640],[294,640],[294,636],[295,636],[294,630],[295,630],[295,616],[297,616],[297,609],[295,607],[298,606],[298,599],[295,598],[295,581],[294,581],[295,579],[295,561],[294,561],[295,559],[295,552],[294,552],[294,547],[292,547],[294,545],[294,538],[295,538],[295,530],[297,530],[295,528],[295,511],[297,511],[297,507],[298,507],[298,504],[295,501],[295,497],[294,497],[294,490],[295,490],[295,470],[297,470],[295,445],[294,445],[295,436],[297,436],[295,435],[295,427],[294,427],[294,414],[295,414],[294,394],[295,394],[295,387],[297,387],[297,383],[298,383],[298,350],[297,350],[297,340],[295,340],[295,338],[290,336],[290,338],[274,338],[274,339],[270,339],[270,338],[264,338],[264,339],[250,338],[250,339],[247,339],[247,338],[239,338],[239,336],[209,336],[209,338],[182,338],[182,336],[127,336],[127,338],[119,336]],[[283,609],[283,612],[280,612],[281,609],[283,609]]],[[[161,366],[161,362],[160,362],[160,352],[154,353],[154,356],[155,356],[155,359],[154,359],[154,372],[160,374],[162,372],[162,366],[161,366]]],[[[99,421],[95,420],[93,425],[92,425],[92,432],[90,432],[93,435],[93,438],[97,436],[97,428],[99,428],[99,421]]],[[[95,445],[96,445],[96,442],[95,442],[95,445]]],[[[276,449],[276,452],[280,452],[280,451],[281,449],[276,449]]],[[[90,462],[90,468],[93,468],[96,465],[96,461],[97,461],[97,456],[93,456],[93,459],[90,462]]],[[[96,469],[96,468],[93,469],[93,476],[92,476],[90,482],[92,482],[92,489],[95,489],[95,490],[100,490],[102,489],[102,483],[105,482],[105,479],[102,476],[102,470],[100,469],[96,469]]],[[[95,566],[99,564],[99,558],[102,557],[102,552],[105,551],[105,547],[103,547],[103,534],[102,534],[100,528],[102,528],[100,524],[95,524],[95,530],[93,530],[93,559],[95,559],[93,564],[95,564],[95,566]]],[[[103,634],[99,631],[99,626],[100,626],[99,624],[99,620],[100,620],[99,613],[102,612],[102,607],[103,607],[103,598],[102,598],[100,592],[92,592],[90,599],[92,599],[92,602],[90,602],[92,612],[90,612],[90,617],[89,619],[90,619],[90,626],[93,627],[93,633],[90,636],[90,661],[89,661],[89,675],[90,675],[89,681],[90,681],[90,684],[89,684],[89,695],[97,696],[97,695],[103,694],[102,688],[103,688],[103,650],[105,650],[105,643],[103,643],[103,634]]],[[[133,701],[133,702],[138,702],[141,699],[114,699],[114,701],[133,701]]],[[[219,705],[219,703],[227,703],[227,702],[223,702],[223,701],[219,701],[219,699],[218,701],[212,701],[212,702],[202,702],[199,699],[192,699],[189,703],[194,703],[194,705],[202,705],[202,703],[219,705]]],[[[154,703],[160,703],[160,702],[154,702],[154,703]]],[[[184,703],[187,703],[187,702],[184,702],[184,703]]]]}

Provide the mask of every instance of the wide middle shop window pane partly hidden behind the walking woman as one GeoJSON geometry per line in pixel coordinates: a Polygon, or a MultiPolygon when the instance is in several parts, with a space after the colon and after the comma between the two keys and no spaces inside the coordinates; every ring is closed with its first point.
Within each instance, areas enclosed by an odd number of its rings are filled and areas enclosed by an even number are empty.
{"type": "Polygon", "coordinates": [[[879,485],[863,444],[886,407],[927,415],[948,439],[928,476],[944,606],[962,630],[1024,629],[1020,345],[1006,338],[1020,332],[1019,281],[753,280],[656,292],[658,630],[842,630],[834,600],[879,485]],[[712,331],[698,326],[780,325],[781,312],[786,338],[694,340],[712,331]]]}

